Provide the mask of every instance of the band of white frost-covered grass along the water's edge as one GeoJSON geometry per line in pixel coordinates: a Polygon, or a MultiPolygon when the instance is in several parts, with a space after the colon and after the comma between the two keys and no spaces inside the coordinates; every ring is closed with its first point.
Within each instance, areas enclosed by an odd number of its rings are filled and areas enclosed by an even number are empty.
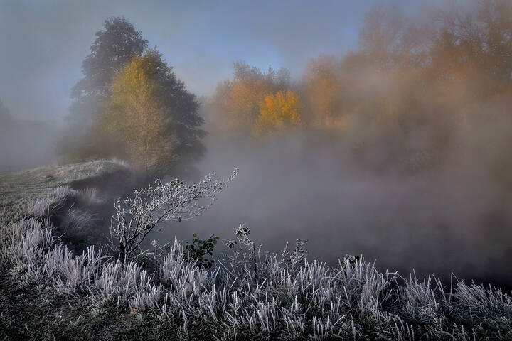
{"type": "MultiPolygon", "coordinates": [[[[383,274],[351,257],[328,266],[308,261],[300,241],[294,251],[265,253],[244,225],[238,244],[228,242],[232,256],[210,269],[176,239],[156,267],[95,246],[76,252],[48,219],[70,197],[100,200],[57,187],[26,214],[0,221],[0,261],[11,278],[46,283],[92,311],[114,306],[158,321],[176,340],[512,340],[512,299],[499,288],[383,274]]],[[[67,208],[68,227],[81,229],[87,219],[73,210],[80,207],[67,208]]]]}

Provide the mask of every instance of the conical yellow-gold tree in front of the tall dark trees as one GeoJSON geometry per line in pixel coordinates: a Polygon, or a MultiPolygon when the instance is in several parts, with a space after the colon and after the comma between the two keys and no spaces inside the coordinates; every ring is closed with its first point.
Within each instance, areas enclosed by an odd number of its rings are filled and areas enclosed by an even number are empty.
{"type": "Polygon", "coordinates": [[[124,144],[134,166],[146,171],[171,163],[176,155],[160,66],[155,50],[135,56],[115,77],[102,117],[104,131],[124,144]]]}

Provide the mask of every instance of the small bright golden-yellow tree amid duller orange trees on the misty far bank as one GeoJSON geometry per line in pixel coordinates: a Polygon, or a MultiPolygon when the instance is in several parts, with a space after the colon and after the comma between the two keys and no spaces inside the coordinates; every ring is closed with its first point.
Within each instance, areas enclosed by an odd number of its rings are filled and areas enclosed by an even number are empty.
{"type": "Polygon", "coordinates": [[[299,126],[301,121],[299,95],[292,90],[267,94],[260,102],[257,133],[269,134],[287,126],[299,126]]]}

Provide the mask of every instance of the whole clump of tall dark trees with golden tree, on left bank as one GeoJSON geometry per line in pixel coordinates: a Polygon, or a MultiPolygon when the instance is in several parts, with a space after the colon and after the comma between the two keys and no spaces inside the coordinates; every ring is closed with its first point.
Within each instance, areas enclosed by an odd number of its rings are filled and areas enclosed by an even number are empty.
{"type": "Polygon", "coordinates": [[[107,18],[103,28],[71,93],[63,153],[78,159],[127,157],[152,171],[201,156],[205,132],[199,129],[203,119],[195,95],[127,19],[107,18]]]}

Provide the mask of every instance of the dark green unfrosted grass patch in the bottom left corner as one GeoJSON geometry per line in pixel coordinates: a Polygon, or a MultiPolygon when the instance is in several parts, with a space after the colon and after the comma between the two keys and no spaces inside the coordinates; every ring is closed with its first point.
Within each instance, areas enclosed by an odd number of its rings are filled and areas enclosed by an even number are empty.
{"type": "Polygon", "coordinates": [[[95,308],[48,284],[0,275],[0,340],[177,340],[169,325],[111,303],[95,308]]]}

